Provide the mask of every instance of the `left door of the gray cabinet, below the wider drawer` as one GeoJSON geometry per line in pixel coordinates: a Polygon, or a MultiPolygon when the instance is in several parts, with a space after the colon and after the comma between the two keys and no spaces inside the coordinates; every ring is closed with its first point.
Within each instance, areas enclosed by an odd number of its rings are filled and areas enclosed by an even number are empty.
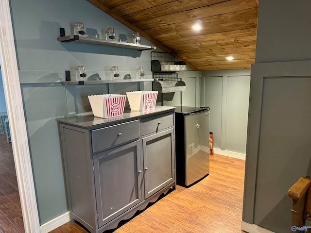
{"type": "Polygon", "coordinates": [[[139,142],[93,155],[99,227],[141,201],[139,142]]]}

